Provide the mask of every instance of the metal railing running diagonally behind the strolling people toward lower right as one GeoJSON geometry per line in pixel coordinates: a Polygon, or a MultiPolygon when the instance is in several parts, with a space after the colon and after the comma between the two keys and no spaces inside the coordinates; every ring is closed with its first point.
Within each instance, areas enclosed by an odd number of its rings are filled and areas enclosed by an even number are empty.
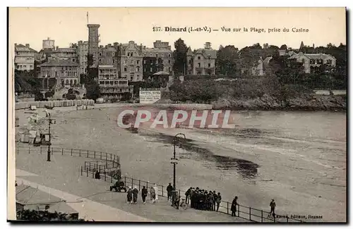
{"type": "MultiPolygon", "coordinates": [[[[95,178],[95,174],[92,171],[85,170],[83,166],[81,166],[80,171],[81,171],[81,175],[86,175],[87,177],[92,176],[92,178],[95,178]]],[[[115,183],[117,181],[116,179],[112,178],[104,171],[103,173],[101,173],[101,179],[102,180],[104,179],[104,181],[111,182],[111,183],[115,183]]],[[[124,181],[126,186],[131,186],[131,187],[136,186],[139,191],[142,190],[143,186],[145,186],[148,189],[149,187],[155,185],[155,182],[148,182],[145,180],[139,180],[134,178],[122,177],[121,179],[124,181]]],[[[158,194],[159,197],[167,197],[167,186],[158,185],[158,184],[156,185],[157,185],[156,194],[158,194]]],[[[179,192],[180,195],[185,196],[185,191],[179,190],[179,189],[177,191],[179,192]]],[[[231,215],[232,214],[231,206],[232,206],[232,202],[222,201],[220,203],[220,209],[218,210],[218,212],[231,215]]],[[[246,220],[257,222],[257,223],[304,223],[304,221],[301,221],[297,218],[290,218],[289,216],[284,214],[277,214],[276,217],[273,217],[269,211],[255,209],[241,204],[237,205],[236,215],[239,218],[244,218],[246,220]]]]}

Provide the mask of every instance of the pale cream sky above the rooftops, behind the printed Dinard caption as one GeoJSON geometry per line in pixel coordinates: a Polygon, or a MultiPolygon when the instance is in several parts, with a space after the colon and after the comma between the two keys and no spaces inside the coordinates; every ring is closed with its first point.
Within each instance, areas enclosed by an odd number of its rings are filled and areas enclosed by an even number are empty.
{"type": "MultiPolygon", "coordinates": [[[[345,8],[10,8],[9,42],[30,44],[40,51],[42,40],[55,46],[88,40],[87,23],[100,24],[100,45],[135,41],[152,47],[155,40],[174,42],[181,38],[192,49],[211,42],[213,49],[234,45],[239,49],[264,43],[299,48],[305,45],[346,44],[345,8]],[[87,18],[88,13],[88,18],[87,18]],[[153,32],[152,27],[211,27],[215,32],[153,32]],[[222,32],[221,27],[241,32],[222,32]],[[249,32],[244,32],[247,27],[249,32]],[[251,32],[251,27],[265,32],[251,32]],[[292,32],[305,28],[309,32],[292,32]],[[277,28],[280,32],[268,32],[277,28]],[[289,32],[282,32],[283,28],[289,32]]],[[[12,48],[11,48],[12,49],[12,48]]]]}

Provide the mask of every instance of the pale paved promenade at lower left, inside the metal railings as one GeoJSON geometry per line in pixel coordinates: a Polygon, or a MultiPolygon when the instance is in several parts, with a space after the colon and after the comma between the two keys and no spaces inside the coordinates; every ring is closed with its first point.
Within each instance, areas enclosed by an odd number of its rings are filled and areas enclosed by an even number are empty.
{"type": "MultiPolygon", "coordinates": [[[[16,154],[16,180],[56,197],[78,211],[80,218],[95,221],[131,222],[246,222],[214,211],[174,209],[167,199],[160,197],[156,204],[127,204],[126,194],[109,192],[109,182],[80,175],[83,159],[77,156],[53,154],[16,154]]],[[[149,198],[149,196],[148,196],[149,198]]]]}

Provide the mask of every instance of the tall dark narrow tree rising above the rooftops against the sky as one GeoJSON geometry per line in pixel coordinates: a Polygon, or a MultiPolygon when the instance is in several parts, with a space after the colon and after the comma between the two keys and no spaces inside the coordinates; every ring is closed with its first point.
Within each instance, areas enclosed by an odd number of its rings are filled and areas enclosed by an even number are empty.
{"type": "Polygon", "coordinates": [[[186,53],[188,51],[188,47],[184,43],[184,40],[181,38],[177,39],[174,42],[173,56],[174,56],[174,65],[173,70],[174,73],[177,75],[185,75],[185,68],[186,68],[186,53]]]}

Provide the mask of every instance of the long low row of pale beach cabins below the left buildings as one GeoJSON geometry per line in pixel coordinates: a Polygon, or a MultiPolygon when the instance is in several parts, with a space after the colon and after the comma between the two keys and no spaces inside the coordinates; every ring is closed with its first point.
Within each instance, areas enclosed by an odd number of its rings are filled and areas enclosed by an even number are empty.
{"type": "Polygon", "coordinates": [[[53,101],[20,101],[15,104],[15,109],[28,109],[30,106],[36,106],[37,108],[44,108],[44,106],[94,106],[95,101],[92,99],[83,100],[53,100],[53,101]]]}

